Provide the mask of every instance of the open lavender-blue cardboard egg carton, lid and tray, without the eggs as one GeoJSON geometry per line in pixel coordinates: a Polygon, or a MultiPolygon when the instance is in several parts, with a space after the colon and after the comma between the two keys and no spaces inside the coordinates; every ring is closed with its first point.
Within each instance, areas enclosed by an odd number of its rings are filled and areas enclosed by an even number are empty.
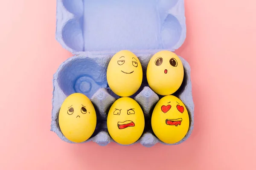
{"type": "MultiPolygon", "coordinates": [[[[145,116],[143,135],[135,143],[151,147],[161,142],[151,128],[151,114],[163,97],[147,83],[146,68],[151,57],[162,50],[175,51],[186,38],[183,0],[57,0],[56,39],[74,56],[63,62],[53,76],[51,130],[65,142],[58,113],[62,102],[73,93],[85,94],[96,109],[97,125],[93,141],[101,146],[114,142],[106,125],[108,109],[120,98],[108,87],[106,71],[111,57],[118,51],[132,51],[143,67],[143,82],[131,98],[141,106],[145,116]]],[[[184,142],[194,126],[194,103],[189,63],[184,66],[181,87],[173,94],[183,101],[189,112],[190,126],[184,142]]],[[[82,142],[84,143],[84,142],[82,142]]],[[[171,144],[168,144],[171,145],[171,144]]]]}

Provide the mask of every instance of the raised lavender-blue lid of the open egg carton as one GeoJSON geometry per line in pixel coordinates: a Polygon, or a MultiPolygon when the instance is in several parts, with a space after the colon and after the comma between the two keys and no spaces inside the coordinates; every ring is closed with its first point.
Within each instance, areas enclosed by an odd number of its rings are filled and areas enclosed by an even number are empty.
{"type": "Polygon", "coordinates": [[[183,0],[57,0],[56,39],[73,54],[175,51],[186,38],[183,0]]]}

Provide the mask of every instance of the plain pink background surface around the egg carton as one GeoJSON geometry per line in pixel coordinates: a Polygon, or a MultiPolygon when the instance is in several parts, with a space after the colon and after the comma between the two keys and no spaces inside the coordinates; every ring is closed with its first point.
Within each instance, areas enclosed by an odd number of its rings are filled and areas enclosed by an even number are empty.
{"type": "Polygon", "coordinates": [[[52,75],[72,56],[55,40],[55,0],[2,1],[0,169],[255,168],[255,0],[185,0],[185,8],[177,54],[192,70],[192,135],[176,146],[101,147],[50,131],[52,75]]]}

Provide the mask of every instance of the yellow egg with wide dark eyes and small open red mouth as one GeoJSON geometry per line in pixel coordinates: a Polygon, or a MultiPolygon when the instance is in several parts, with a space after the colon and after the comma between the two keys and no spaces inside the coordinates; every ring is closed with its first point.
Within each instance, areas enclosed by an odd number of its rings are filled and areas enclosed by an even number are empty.
{"type": "Polygon", "coordinates": [[[147,80],[157,94],[175,93],[183,82],[184,69],[180,58],[171,51],[160,51],[148,62],[147,80]]]}

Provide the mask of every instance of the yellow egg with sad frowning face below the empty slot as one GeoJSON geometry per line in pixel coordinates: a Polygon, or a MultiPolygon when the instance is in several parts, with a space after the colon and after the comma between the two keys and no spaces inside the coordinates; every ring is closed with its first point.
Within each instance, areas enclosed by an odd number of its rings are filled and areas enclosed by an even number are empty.
{"type": "Polygon", "coordinates": [[[96,128],[96,112],[87,96],[74,93],[62,103],[58,121],[63,135],[80,143],[92,136],[96,128]]]}

